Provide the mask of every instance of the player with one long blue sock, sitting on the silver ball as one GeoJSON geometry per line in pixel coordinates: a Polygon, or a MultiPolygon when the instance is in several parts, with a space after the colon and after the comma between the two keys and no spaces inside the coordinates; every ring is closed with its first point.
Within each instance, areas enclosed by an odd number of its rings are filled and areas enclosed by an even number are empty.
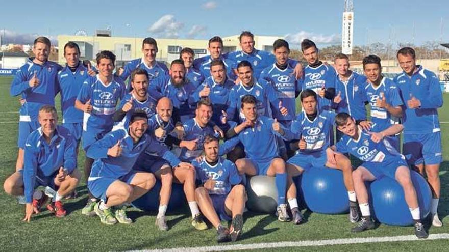
{"type": "Polygon", "coordinates": [[[243,177],[245,174],[276,177],[278,219],[290,221],[287,204],[285,204],[287,172],[285,162],[279,156],[276,137],[282,137],[289,141],[293,139],[293,134],[276,119],[258,115],[256,103],[257,100],[252,95],[245,95],[241,99],[241,111],[245,121],[228,131],[227,135],[237,135],[237,137],[229,139],[223,144],[223,153],[227,153],[241,142],[245,148],[246,158],[237,159],[235,162],[239,174],[243,177]]]}

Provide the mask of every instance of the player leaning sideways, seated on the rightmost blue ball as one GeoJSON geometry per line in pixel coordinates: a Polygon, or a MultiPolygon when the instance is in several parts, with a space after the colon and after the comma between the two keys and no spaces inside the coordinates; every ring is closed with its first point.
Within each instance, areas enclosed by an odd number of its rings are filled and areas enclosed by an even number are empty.
{"type": "Polygon", "coordinates": [[[369,211],[365,181],[374,181],[381,176],[388,176],[395,179],[404,189],[405,200],[415,222],[415,235],[418,238],[427,238],[428,234],[421,223],[418,199],[407,162],[404,156],[384,139],[386,136],[400,133],[404,126],[396,124],[381,132],[363,132],[360,126],[356,126],[354,119],[346,113],[337,114],[335,124],[345,135],[335,146],[328,149],[328,162],[336,162],[332,155],[336,152],[350,153],[364,162],[353,172],[362,220],[352,231],[362,232],[375,228],[369,211]]]}

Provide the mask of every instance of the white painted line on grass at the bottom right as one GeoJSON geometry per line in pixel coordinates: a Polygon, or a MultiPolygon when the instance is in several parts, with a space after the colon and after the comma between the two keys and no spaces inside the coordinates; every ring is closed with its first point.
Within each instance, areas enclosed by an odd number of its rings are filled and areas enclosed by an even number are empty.
{"type": "Polygon", "coordinates": [[[263,249],[263,248],[280,248],[280,247],[308,247],[308,246],[327,246],[341,244],[360,244],[360,243],[376,243],[376,242],[396,242],[396,241],[426,241],[449,239],[449,234],[431,234],[427,239],[418,239],[414,235],[401,236],[385,236],[385,237],[367,237],[367,238],[344,238],[332,240],[311,240],[311,241],[284,241],[269,243],[253,243],[253,244],[234,244],[221,246],[204,246],[204,247],[177,247],[152,250],[132,250],[146,252],[175,252],[175,251],[227,251],[227,250],[243,250],[243,249],[263,249]]]}

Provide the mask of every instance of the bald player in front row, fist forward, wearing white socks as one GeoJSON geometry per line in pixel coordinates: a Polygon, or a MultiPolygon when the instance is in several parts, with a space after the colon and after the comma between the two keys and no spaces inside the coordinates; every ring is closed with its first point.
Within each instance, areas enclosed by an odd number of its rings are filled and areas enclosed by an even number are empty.
{"type": "MultiPolygon", "coordinates": [[[[148,119],[148,131],[154,134],[157,141],[162,146],[171,144],[179,145],[188,150],[196,149],[196,141],[180,141],[176,137],[170,135],[174,129],[173,121],[171,120],[173,106],[170,99],[162,97],[159,99],[156,112],[154,116],[148,119]]],[[[195,170],[193,166],[172,167],[159,153],[153,148],[148,148],[140,154],[134,165],[134,170],[151,172],[157,179],[161,180],[161,191],[159,193],[159,210],[156,217],[156,226],[161,231],[168,230],[165,222],[165,212],[167,211],[168,202],[171,195],[171,184],[173,182],[184,185],[184,193],[189,203],[192,212],[192,225],[198,230],[207,229],[206,223],[202,220],[201,213],[195,202],[195,170]]]]}

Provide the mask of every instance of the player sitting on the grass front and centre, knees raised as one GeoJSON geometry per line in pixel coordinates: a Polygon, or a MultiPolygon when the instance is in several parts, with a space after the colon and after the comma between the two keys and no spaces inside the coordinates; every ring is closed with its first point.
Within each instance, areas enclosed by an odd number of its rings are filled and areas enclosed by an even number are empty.
{"type": "Polygon", "coordinates": [[[204,216],[217,229],[217,241],[236,241],[243,228],[245,208],[245,187],[234,163],[218,156],[218,139],[206,136],[204,140],[205,157],[193,161],[197,178],[203,186],[195,190],[196,202],[204,216]],[[230,221],[231,231],[221,225],[221,220],[230,221]]]}

